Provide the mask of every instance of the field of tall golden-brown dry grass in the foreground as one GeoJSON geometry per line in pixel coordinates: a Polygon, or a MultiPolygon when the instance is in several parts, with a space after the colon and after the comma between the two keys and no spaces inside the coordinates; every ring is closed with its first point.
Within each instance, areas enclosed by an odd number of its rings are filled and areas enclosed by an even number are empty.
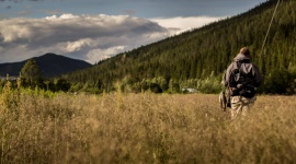
{"type": "Polygon", "coordinates": [[[295,163],[296,97],[230,121],[218,95],[3,91],[0,163],[295,163]]]}

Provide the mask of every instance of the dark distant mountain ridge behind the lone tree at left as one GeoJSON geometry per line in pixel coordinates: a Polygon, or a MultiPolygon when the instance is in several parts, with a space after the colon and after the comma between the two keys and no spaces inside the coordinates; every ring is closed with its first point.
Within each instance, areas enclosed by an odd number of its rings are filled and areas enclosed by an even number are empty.
{"type": "MultiPolygon", "coordinates": [[[[45,54],[43,56],[34,57],[31,59],[36,61],[41,71],[43,72],[43,75],[46,78],[53,78],[64,73],[69,73],[92,67],[91,63],[83,60],[72,59],[56,54],[45,54]]],[[[0,75],[5,77],[9,74],[10,77],[18,77],[27,60],[20,62],[0,63],[0,75]]]]}

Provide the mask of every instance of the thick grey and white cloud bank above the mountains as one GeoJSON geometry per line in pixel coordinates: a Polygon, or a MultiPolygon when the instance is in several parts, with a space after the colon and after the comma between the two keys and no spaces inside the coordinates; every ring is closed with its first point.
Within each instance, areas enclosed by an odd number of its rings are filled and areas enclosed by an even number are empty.
{"type": "Polygon", "coordinates": [[[95,63],[218,17],[140,19],[73,15],[0,20],[0,62],[55,52],[95,63]]]}

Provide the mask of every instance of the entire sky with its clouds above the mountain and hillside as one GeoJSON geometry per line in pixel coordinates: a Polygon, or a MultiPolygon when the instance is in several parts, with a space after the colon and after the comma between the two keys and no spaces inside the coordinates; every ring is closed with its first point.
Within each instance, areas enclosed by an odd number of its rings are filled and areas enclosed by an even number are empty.
{"type": "Polygon", "coordinates": [[[55,52],[94,63],[265,0],[0,0],[0,63],[55,52]]]}

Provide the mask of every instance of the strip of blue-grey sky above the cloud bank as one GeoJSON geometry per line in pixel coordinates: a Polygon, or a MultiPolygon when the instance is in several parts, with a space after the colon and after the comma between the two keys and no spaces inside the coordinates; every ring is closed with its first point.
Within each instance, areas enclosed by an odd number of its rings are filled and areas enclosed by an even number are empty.
{"type": "Polygon", "coordinates": [[[0,0],[1,16],[50,14],[132,14],[138,17],[228,16],[265,0],[0,0]]]}

